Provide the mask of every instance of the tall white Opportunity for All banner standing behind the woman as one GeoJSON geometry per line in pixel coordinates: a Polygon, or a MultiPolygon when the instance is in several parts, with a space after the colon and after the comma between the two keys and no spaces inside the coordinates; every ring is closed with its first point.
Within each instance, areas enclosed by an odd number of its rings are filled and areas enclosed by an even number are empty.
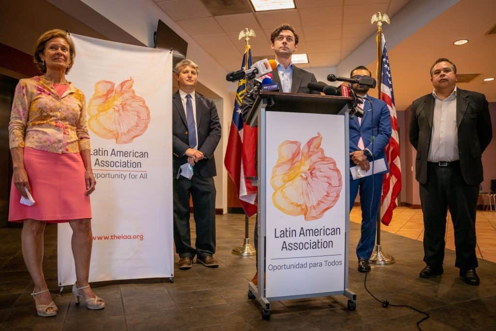
{"type": "MultiPolygon", "coordinates": [[[[89,280],[172,277],[172,54],[71,36],[97,181],[89,280]]],[[[76,279],[71,235],[58,225],[61,286],[76,279]]]]}

